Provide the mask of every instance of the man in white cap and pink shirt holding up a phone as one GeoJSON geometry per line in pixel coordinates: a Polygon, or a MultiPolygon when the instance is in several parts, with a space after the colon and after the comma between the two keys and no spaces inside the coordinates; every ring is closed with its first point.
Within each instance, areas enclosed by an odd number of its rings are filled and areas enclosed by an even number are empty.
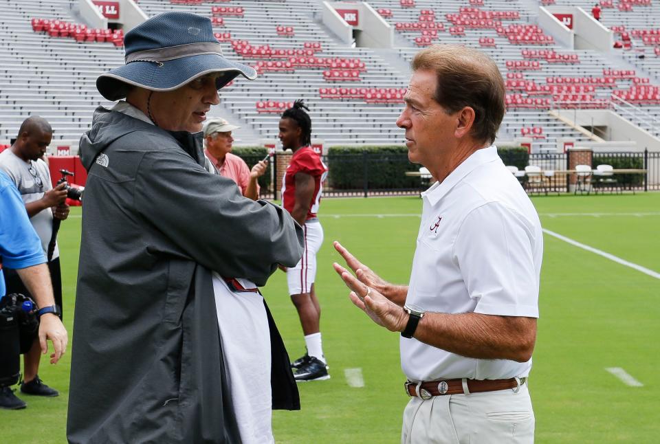
{"type": "Polygon", "coordinates": [[[239,128],[222,118],[208,120],[204,125],[204,154],[213,164],[214,172],[232,179],[241,188],[243,196],[256,201],[259,199],[257,179],[266,172],[267,163],[262,160],[250,170],[241,157],[232,154],[232,131],[239,128]]]}

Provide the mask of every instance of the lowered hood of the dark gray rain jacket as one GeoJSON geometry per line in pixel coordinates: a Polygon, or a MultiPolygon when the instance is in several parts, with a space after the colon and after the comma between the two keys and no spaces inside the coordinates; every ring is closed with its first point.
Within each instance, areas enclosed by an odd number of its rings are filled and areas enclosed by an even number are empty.
{"type": "Polygon", "coordinates": [[[173,137],[179,146],[186,151],[195,162],[203,165],[202,142],[203,134],[191,134],[187,131],[166,131],[153,124],[143,122],[119,111],[112,111],[104,107],[98,107],[94,111],[91,121],[91,129],[80,137],[78,154],[85,170],[96,162],[96,157],[102,153],[111,143],[126,134],[135,131],[149,131],[151,133],[162,133],[166,137],[173,137]]]}

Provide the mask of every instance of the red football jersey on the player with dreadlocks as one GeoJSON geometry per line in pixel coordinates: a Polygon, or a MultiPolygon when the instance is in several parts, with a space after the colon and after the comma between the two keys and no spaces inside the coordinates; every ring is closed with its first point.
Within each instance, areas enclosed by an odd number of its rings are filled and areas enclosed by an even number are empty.
{"type": "Polygon", "coordinates": [[[282,181],[282,206],[289,213],[293,212],[296,203],[296,174],[305,173],[314,177],[314,195],[307,212],[307,219],[316,217],[321,201],[321,182],[328,175],[328,168],[321,162],[321,157],[310,146],[303,146],[291,157],[289,166],[282,181]]]}

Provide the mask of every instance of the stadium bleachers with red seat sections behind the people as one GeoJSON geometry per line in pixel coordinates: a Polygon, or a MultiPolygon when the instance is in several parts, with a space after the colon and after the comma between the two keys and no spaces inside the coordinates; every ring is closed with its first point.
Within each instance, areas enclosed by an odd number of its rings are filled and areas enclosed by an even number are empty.
{"type": "MultiPolygon", "coordinates": [[[[75,3],[0,3],[0,55],[8,60],[0,67],[6,79],[0,91],[0,142],[13,137],[23,118],[35,113],[52,122],[56,139],[78,140],[94,109],[109,105],[94,83],[98,74],[123,63],[122,47],[114,45],[120,34],[103,30],[92,38],[80,23],[75,3]],[[58,36],[40,29],[40,20],[58,21],[58,36]],[[74,38],[62,38],[67,29],[74,38]],[[75,38],[81,30],[85,38],[75,38]]],[[[548,2],[537,5],[542,3],[548,2]]],[[[236,134],[240,144],[274,140],[278,113],[267,111],[273,109],[268,104],[280,109],[279,104],[298,98],[309,104],[314,136],[326,144],[400,144],[403,135],[394,122],[401,109],[401,88],[410,74],[406,63],[419,47],[460,43],[487,52],[505,77],[508,112],[500,139],[527,135],[523,130],[533,122],[544,136],[535,137],[534,149],[555,151],[559,138],[580,142],[590,137],[557,120],[552,109],[616,111],[625,103],[644,115],[660,117],[660,58],[654,54],[660,52],[660,30],[653,18],[659,8],[653,2],[610,3],[608,7],[602,2],[602,23],[619,34],[628,32],[632,41],[632,49],[615,55],[562,47],[538,26],[536,10],[528,1],[371,1],[395,30],[396,47],[378,51],[339,41],[320,23],[320,1],[139,4],[148,16],[169,10],[208,16],[225,55],[259,71],[254,82],[239,79],[225,87],[221,104],[211,111],[212,116],[241,125],[236,134]],[[627,6],[621,10],[619,4],[627,6]],[[639,58],[638,49],[644,49],[644,58],[639,58]]],[[[582,0],[553,4],[580,5],[587,11],[593,6],[582,0]]],[[[635,121],[634,114],[627,117],[635,121]]],[[[660,126],[650,131],[660,135],[660,126]]]]}

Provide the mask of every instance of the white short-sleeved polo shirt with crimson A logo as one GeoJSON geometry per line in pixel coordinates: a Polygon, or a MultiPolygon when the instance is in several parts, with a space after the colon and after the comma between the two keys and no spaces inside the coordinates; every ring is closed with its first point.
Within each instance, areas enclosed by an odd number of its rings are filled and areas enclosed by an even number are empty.
{"type": "MultiPolygon", "coordinates": [[[[406,304],[423,311],[538,318],[543,236],[536,209],[489,146],[422,193],[406,304]]],[[[473,359],[401,337],[411,381],[525,377],[531,359],[473,359]]]]}

